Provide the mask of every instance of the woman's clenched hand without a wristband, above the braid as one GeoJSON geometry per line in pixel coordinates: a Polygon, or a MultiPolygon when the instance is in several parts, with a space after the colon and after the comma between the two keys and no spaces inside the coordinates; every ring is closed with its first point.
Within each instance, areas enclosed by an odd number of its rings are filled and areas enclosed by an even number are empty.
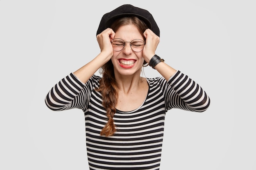
{"type": "Polygon", "coordinates": [[[97,35],[97,42],[99,44],[99,48],[101,49],[101,53],[104,53],[108,57],[112,57],[113,48],[111,45],[111,40],[114,38],[115,32],[107,28],[97,35]]]}

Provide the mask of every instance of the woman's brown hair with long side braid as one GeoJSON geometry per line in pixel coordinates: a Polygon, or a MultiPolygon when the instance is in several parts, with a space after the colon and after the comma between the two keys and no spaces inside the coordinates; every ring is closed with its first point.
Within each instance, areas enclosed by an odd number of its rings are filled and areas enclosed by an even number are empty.
{"type": "MultiPolygon", "coordinates": [[[[110,26],[110,28],[116,32],[120,26],[127,24],[134,24],[135,26],[137,26],[141,35],[144,37],[143,33],[148,27],[143,21],[139,20],[139,18],[134,16],[119,18],[112,24],[112,26],[110,26]]],[[[145,61],[144,64],[146,64],[145,61]]],[[[114,124],[113,117],[116,113],[115,104],[117,103],[118,98],[118,86],[117,82],[115,81],[114,67],[111,60],[109,60],[101,67],[100,73],[102,74],[100,86],[95,90],[101,92],[103,100],[102,105],[105,107],[106,115],[108,117],[108,122],[101,130],[101,135],[111,136],[114,135],[114,133],[116,132],[116,126],[114,124]]]]}

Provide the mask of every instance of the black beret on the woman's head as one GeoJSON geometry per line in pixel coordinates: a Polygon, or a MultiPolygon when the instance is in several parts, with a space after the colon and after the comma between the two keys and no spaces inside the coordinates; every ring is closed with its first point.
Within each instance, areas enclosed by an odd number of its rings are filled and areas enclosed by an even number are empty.
{"type": "Polygon", "coordinates": [[[117,18],[125,16],[137,16],[140,20],[144,21],[148,28],[151,29],[157,36],[160,36],[160,30],[151,13],[145,9],[134,7],[130,4],[121,5],[113,11],[104,14],[101,18],[96,35],[109,28],[117,18]]]}

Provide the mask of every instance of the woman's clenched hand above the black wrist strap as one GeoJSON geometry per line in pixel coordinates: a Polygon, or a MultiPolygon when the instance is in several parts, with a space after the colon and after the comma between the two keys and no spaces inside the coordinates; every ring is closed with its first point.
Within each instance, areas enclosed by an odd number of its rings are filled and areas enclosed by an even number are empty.
{"type": "Polygon", "coordinates": [[[146,38],[146,45],[143,49],[142,56],[144,57],[144,60],[149,63],[150,59],[155,55],[155,50],[160,42],[160,38],[150,29],[146,29],[143,35],[146,38]]]}

